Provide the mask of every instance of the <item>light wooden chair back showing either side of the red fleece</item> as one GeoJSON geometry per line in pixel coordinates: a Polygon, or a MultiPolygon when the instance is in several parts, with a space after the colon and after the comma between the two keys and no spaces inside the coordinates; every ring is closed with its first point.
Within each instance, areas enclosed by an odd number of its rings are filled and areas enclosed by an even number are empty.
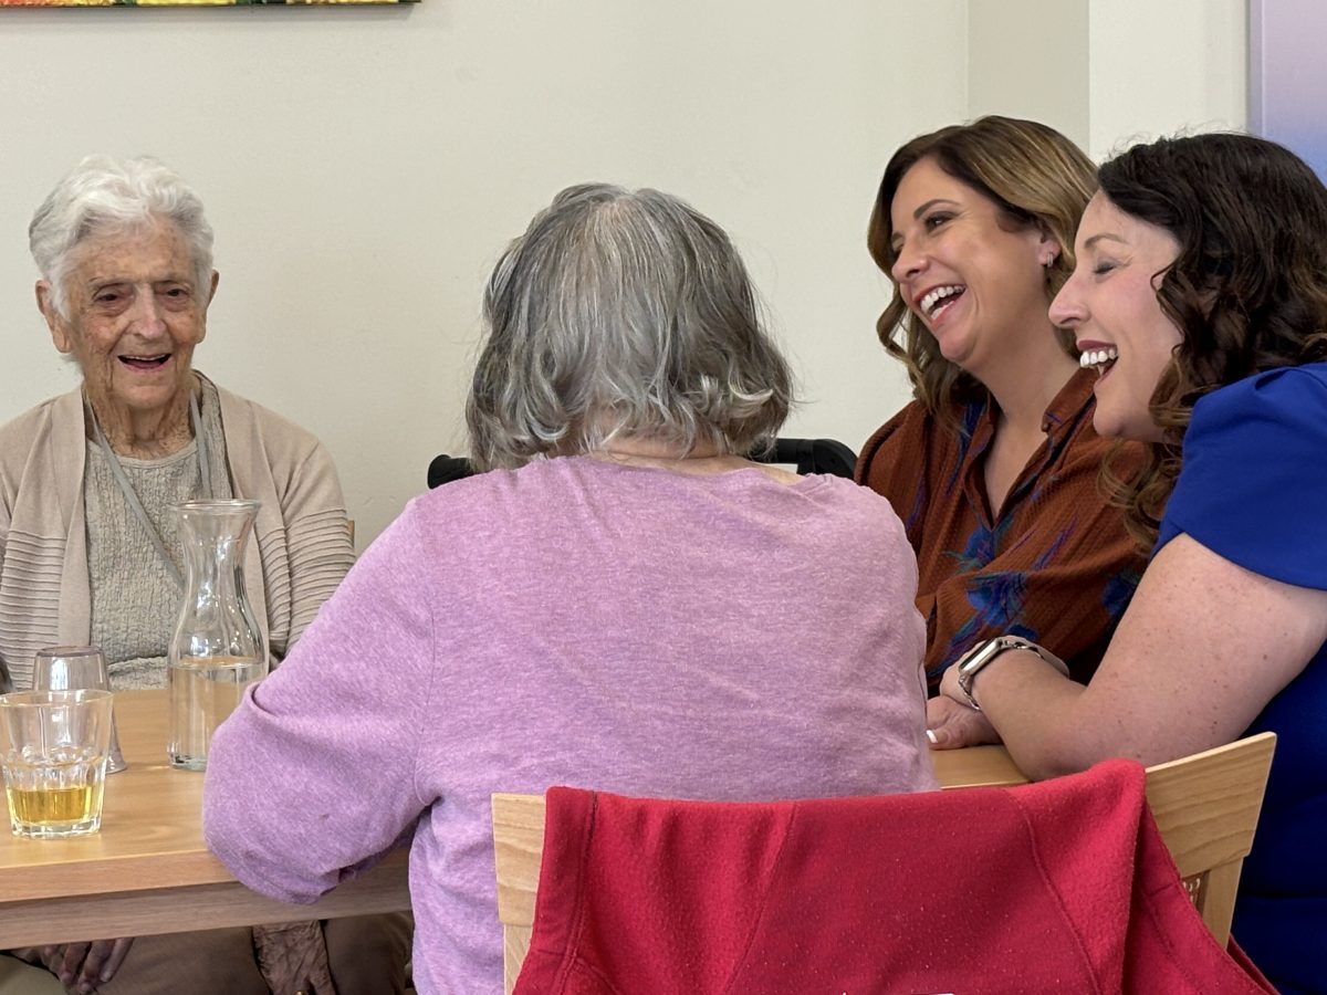
{"type": "MultiPolygon", "coordinates": [[[[1262,732],[1229,746],[1148,768],[1148,807],[1204,923],[1230,939],[1239,869],[1253,846],[1277,736],[1262,732]]],[[[529,949],[544,848],[540,795],[492,796],[498,918],[503,926],[503,991],[511,995],[529,949]]]]}

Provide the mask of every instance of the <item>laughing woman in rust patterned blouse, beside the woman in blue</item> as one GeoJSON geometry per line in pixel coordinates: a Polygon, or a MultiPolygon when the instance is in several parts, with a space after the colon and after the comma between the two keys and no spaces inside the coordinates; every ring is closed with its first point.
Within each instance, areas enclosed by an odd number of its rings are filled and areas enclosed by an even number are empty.
{"type": "MultiPolygon", "coordinates": [[[[1091,161],[1044,125],[986,117],[921,135],[885,167],[868,244],[893,300],[877,330],[916,401],[867,443],[921,568],[934,694],[991,635],[1051,646],[1087,681],[1144,560],[1099,487],[1095,373],[1047,305],[1074,269],[1091,161]]],[[[1136,466],[1121,448],[1112,466],[1136,466]]]]}

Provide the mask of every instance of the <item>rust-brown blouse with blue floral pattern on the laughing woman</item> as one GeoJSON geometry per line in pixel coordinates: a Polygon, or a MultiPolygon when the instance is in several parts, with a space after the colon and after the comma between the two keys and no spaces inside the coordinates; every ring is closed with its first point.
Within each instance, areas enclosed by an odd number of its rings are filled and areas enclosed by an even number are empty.
{"type": "MultiPolygon", "coordinates": [[[[1006,633],[1046,646],[1084,683],[1101,662],[1147,559],[1097,483],[1111,443],[1092,427],[1095,378],[1080,370],[1051,402],[1046,442],[998,521],[983,474],[994,405],[966,405],[953,431],[914,401],[867,442],[857,482],[890,500],[917,553],[932,694],[969,647],[1006,633]]],[[[1119,470],[1141,460],[1128,446],[1119,470]]]]}

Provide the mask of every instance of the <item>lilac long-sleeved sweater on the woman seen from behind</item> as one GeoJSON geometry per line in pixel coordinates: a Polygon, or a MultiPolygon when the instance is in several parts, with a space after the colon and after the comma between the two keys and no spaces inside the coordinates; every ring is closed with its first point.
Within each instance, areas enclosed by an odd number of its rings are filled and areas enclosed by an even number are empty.
{"type": "Polygon", "coordinates": [[[837,478],[587,458],[447,484],[218,731],[208,845],[313,901],[406,834],[421,995],[499,992],[488,796],[929,789],[917,568],[837,478]]]}

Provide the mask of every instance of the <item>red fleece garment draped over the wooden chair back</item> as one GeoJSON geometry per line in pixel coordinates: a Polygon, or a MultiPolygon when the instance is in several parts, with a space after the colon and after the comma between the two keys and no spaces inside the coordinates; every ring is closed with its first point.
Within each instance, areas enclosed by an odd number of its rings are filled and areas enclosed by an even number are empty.
{"type": "Polygon", "coordinates": [[[1111,760],[1016,788],[768,804],[553,788],[518,995],[1273,988],[1111,760]]]}

